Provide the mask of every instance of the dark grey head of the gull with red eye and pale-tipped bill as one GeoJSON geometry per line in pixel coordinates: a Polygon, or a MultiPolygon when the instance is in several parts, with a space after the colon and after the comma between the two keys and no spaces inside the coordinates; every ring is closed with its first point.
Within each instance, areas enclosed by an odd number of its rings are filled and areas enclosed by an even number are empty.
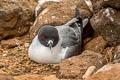
{"type": "Polygon", "coordinates": [[[43,26],[38,33],[39,42],[50,50],[55,47],[59,41],[58,30],[52,26],[43,26]]]}

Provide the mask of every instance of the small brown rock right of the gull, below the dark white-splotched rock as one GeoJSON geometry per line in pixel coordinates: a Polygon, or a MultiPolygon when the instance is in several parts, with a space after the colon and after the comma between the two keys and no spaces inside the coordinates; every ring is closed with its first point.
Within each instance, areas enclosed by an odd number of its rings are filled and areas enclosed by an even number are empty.
{"type": "Polygon", "coordinates": [[[91,40],[90,42],[88,42],[85,45],[85,49],[100,53],[103,51],[106,45],[107,45],[107,42],[102,38],[102,36],[98,36],[93,40],[91,40]]]}

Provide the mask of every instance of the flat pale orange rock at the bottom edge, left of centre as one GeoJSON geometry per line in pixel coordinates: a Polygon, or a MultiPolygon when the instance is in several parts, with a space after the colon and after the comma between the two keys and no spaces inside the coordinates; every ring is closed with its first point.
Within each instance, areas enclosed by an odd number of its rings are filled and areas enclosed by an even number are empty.
{"type": "Polygon", "coordinates": [[[14,79],[15,80],[41,80],[42,77],[40,75],[26,74],[26,75],[14,76],[14,79]]]}

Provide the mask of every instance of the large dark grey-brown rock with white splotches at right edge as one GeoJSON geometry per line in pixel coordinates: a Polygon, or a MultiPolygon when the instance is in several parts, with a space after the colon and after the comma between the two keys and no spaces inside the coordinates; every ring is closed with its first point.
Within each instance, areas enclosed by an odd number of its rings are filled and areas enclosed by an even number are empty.
{"type": "Polygon", "coordinates": [[[112,8],[100,10],[91,19],[96,34],[101,35],[108,45],[120,43],[120,11],[112,8]]]}

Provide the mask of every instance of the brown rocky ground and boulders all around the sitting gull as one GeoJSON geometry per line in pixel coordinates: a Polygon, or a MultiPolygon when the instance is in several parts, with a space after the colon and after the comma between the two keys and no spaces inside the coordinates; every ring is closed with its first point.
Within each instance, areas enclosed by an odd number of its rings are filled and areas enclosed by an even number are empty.
{"type": "Polygon", "coordinates": [[[120,0],[1,0],[0,80],[120,80],[120,0]],[[40,3],[35,26],[35,7],[40,3]],[[55,2],[57,1],[57,2],[55,2]],[[38,64],[28,47],[38,29],[62,25],[75,8],[89,18],[83,51],[60,64],[38,64]]]}

